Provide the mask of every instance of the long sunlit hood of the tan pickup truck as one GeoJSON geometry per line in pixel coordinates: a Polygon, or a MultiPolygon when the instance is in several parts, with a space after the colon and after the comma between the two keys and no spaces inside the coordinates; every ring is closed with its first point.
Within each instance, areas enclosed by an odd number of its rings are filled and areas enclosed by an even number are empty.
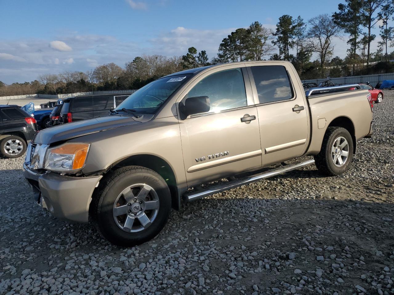
{"type": "Polygon", "coordinates": [[[132,117],[128,116],[104,116],[100,118],[57,125],[41,130],[35,135],[33,142],[37,144],[51,144],[53,142],[68,140],[90,133],[138,123],[139,122],[133,120],[132,117]]]}

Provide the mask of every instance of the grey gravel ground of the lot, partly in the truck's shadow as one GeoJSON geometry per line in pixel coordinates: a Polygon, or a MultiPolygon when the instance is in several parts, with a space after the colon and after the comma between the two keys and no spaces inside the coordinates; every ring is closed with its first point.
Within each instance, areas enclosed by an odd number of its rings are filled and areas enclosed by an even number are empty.
{"type": "Polygon", "coordinates": [[[33,203],[23,159],[0,159],[0,294],[393,294],[394,91],[351,169],[315,166],[173,211],[122,249],[33,203]]]}

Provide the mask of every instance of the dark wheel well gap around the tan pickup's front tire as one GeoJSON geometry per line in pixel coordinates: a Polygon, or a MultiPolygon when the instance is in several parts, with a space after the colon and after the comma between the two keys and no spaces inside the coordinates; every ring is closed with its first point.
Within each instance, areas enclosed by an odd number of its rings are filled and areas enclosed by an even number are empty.
{"type": "Polygon", "coordinates": [[[177,179],[173,168],[167,161],[161,157],[151,154],[132,155],[113,163],[110,166],[110,169],[104,174],[125,166],[142,166],[157,172],[161,177],[163,177],[170,189],[171,206],[176,210],[180,210],[180,195],[178,192],[177,179]]]}

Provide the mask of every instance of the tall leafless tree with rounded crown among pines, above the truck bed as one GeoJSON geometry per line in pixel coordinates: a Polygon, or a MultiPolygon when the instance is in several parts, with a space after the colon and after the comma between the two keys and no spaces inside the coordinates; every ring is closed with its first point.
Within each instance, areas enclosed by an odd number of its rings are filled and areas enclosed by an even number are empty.
{"type": "Polygon", "coordinates": [[[331,44],[333,38],[342,35],[342,28],[335,24],[328,14],[321,14],[308,21],[310,27],[307,31],[307,48],[316,52],[320,57],[321,74],[324,75],[324,66],[328,57],[333,55],[334,45],[331,44]]]}

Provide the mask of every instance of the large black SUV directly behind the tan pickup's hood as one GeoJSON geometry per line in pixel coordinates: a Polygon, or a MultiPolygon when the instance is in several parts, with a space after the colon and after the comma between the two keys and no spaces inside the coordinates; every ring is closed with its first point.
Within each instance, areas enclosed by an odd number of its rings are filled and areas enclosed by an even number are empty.
{"type": "Polygon", "coordinates": [[[64,124],[106,116],[110,109],[115,108],[119,103],[128,98],[130,94],[113,93],[64,98],[59,123],[64,124]]]}

